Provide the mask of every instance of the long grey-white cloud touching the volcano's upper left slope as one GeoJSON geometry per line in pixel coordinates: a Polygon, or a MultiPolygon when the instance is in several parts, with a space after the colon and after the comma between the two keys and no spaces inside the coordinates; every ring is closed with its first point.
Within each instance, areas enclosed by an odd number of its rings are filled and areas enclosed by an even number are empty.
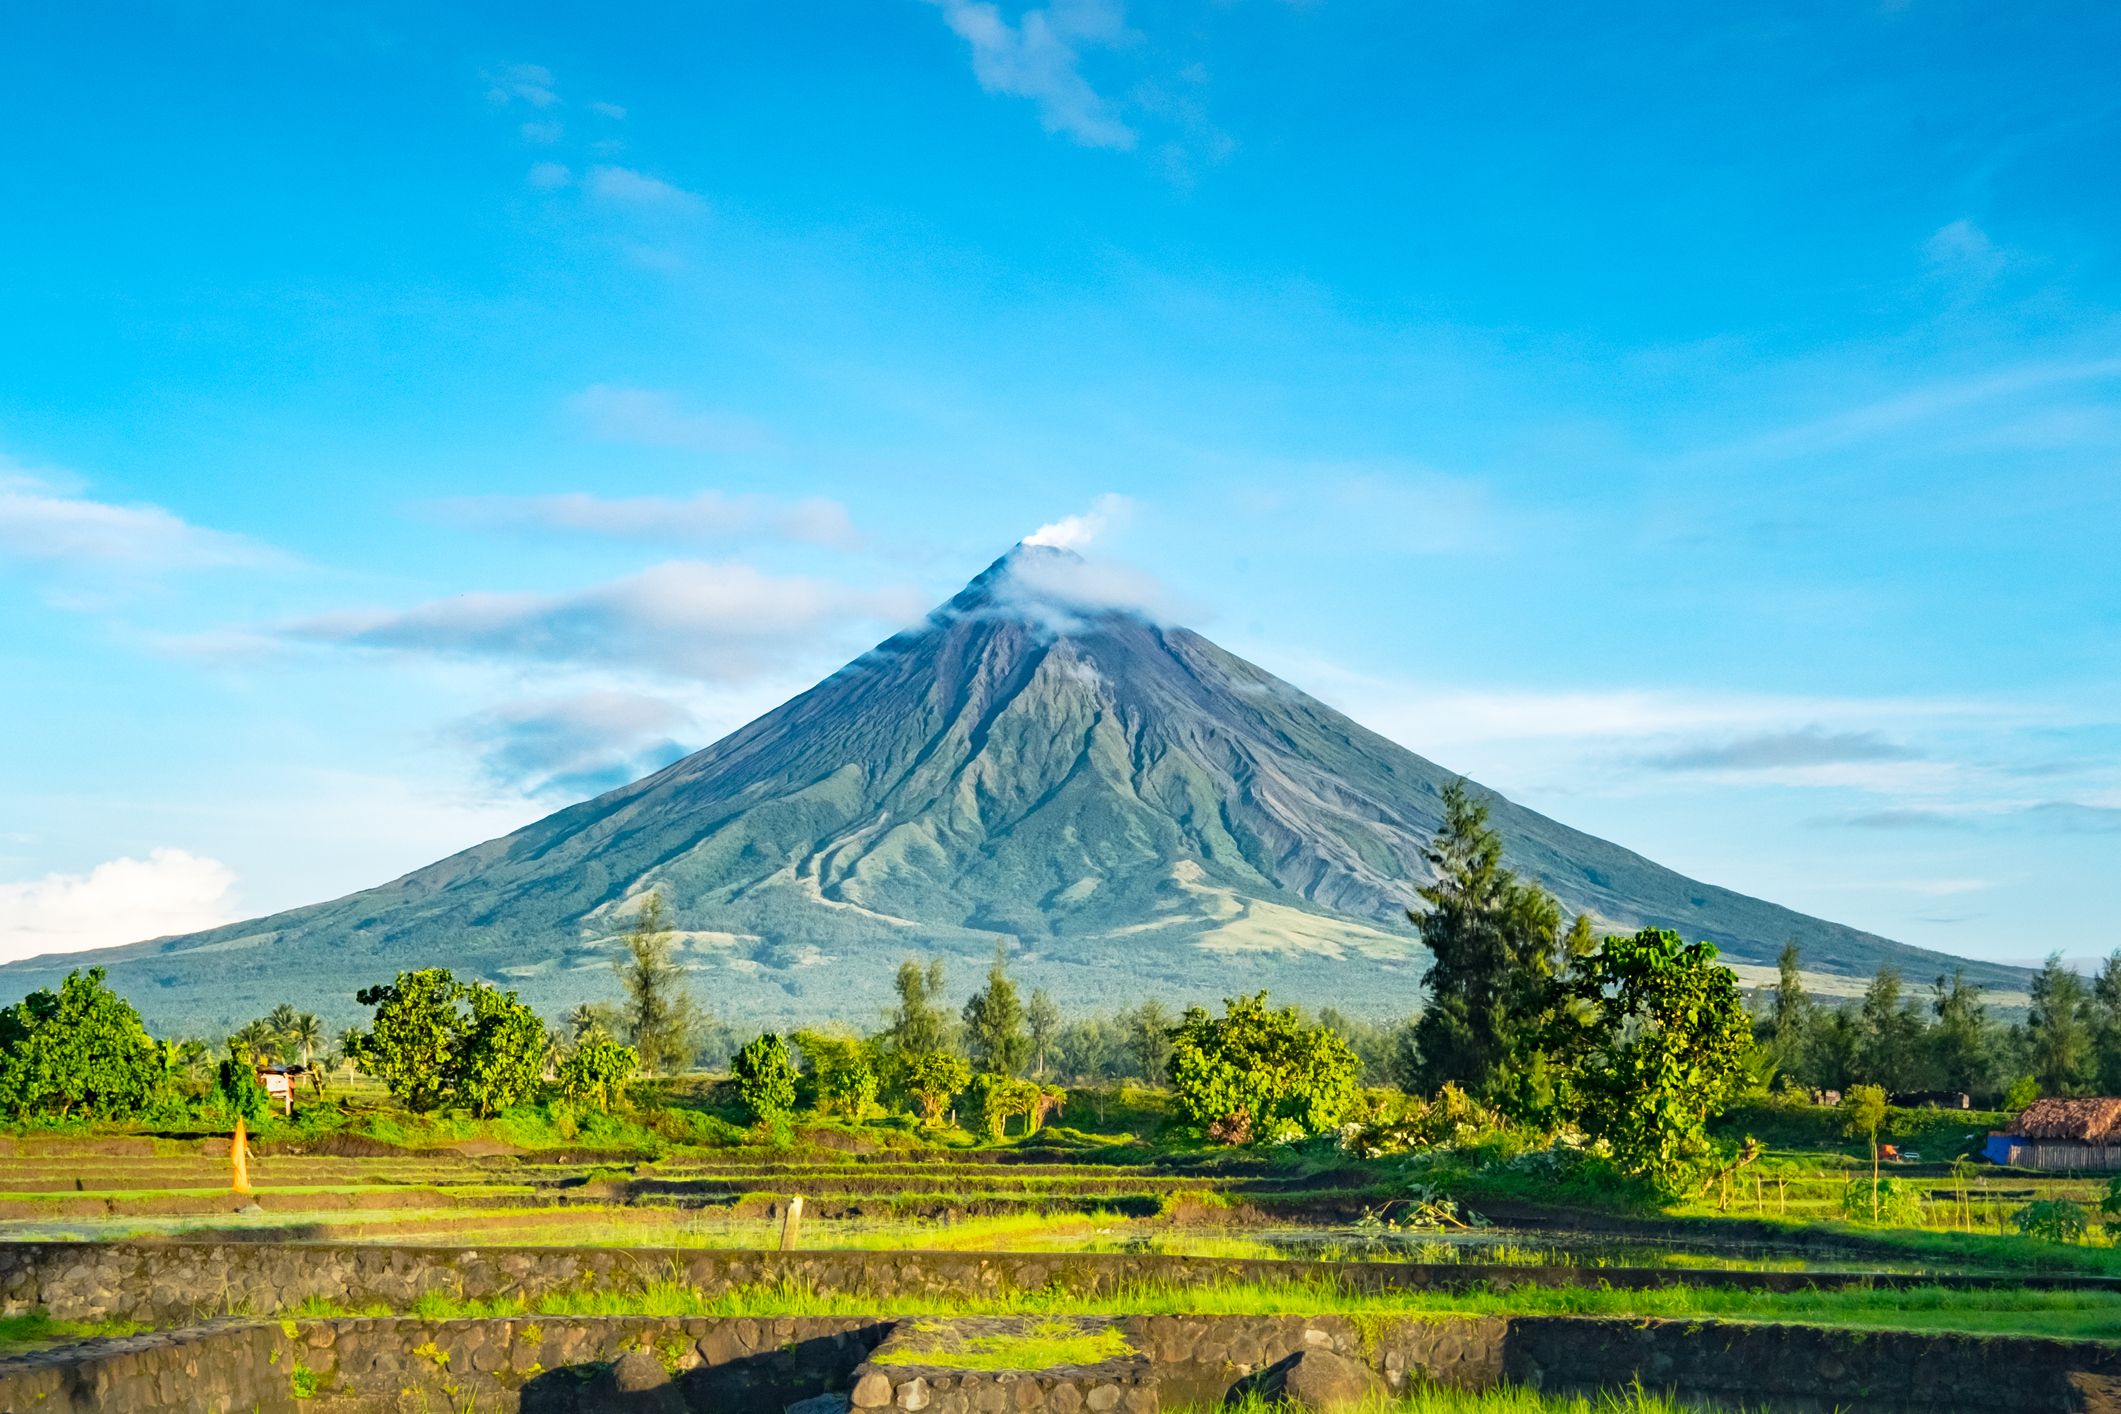
{"type": "Polygon", "coordinates": [[[643,668],[706,683],[770,672],[851,623],[906,623],[901,589],[853,589],[772,577],[749,564],[672,560],[568,594],[456,594],[403,611],[333,613],[248,642],[308,642],[390,653],[643,668]]]}

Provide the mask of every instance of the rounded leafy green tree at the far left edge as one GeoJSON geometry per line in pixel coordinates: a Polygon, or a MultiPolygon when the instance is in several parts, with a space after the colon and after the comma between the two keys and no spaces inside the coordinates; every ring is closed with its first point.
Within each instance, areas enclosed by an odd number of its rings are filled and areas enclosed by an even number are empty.
{"type": "Polygon", "coordinates": [[[161,1094],[163,1049],[134,1005],[104,986],[104,969],[66,973],[0,1011],[0,1115],[117,1119],[161,1094]]]}

